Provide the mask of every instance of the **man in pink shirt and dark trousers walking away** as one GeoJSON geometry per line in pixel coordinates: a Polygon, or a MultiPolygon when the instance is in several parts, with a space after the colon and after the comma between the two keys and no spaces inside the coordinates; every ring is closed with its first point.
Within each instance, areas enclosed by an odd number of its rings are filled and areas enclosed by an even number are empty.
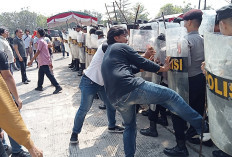
{"type": "Polygon", "coordinates": [[[35,58],[38,57],[39,79],[38,79],[38,86],[37,88],[35,88],[35,90],[38,91],[43,90],[44,74],[46,74],[48,79],[51,81],[52,85],[56,87],[56,90],[53,92],[53,94],[57,94],[62,90],[62,88],[60,87],[59,83],[56,81],[54,75],[51,73],[49,68],[52,67],[52,61],[48,50],[48,44],[44,40],[45,31],[39,28],[37,31],[37,37],[39,38],[39,40],[37,42],[38,46],[37,46],[36,54],[28,63],[28,66],[30,66],[33,60],[35,60],[35,58]]]}

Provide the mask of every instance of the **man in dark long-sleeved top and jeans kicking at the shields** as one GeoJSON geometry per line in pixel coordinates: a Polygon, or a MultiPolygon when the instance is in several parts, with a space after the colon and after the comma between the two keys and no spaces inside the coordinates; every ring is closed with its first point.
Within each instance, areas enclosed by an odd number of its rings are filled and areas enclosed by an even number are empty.
{"type": "Polygon", "coordinates": [[[121,113],[125,124],[123,133],[126,157],[134,157],[136,150],[136,113],[134,104],[162,104],[176,113],[200,134],[202,116],[193,110],[175,91],[147,82],[134,73],[140,69],[149,72],[169,70],[167,57],[164,66],[159,66],[146,59],[152,55],[145,52],[144,57],[127,44],[127,30],[122,27],[111,27],[107,35],[109,44],[102,63],[102,77],[109,101],[121,113]]]}

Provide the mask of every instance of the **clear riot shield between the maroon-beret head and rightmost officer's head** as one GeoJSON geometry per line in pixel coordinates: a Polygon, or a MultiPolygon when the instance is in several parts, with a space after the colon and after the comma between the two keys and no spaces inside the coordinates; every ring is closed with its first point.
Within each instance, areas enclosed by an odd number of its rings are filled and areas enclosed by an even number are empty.
{"type": "Polygon", "coordinates": [[[204,35],[205,32],[214,32],[216,11],[215,10],[202,10],[202,22],[199,27],[199,34],[204,35]]]}

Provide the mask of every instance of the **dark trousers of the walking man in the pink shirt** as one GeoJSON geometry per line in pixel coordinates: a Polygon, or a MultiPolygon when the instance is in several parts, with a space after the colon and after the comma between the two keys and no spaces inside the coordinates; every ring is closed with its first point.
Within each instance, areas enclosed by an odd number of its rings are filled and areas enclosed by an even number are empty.
{"type": "Polygon", "coordinates": [[[48,65],[42,65],[39,67],[39,73],[38,73],[38,87],[43,87],[43,82],[44,82],[44,75],[48,77],[48,79],[51,81],[52,85],[55,87],[59,87],[60,85],[56,81],[54,75],[51,73],[49,66],[48,65]]]}

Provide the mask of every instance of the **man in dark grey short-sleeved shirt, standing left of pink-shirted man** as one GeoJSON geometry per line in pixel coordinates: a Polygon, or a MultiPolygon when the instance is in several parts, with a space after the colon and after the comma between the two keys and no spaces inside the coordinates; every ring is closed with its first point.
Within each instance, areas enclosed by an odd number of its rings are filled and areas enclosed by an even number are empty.
{"type": "Polygon", "coordinates": [[[28,84],[30,80],[27,78],[26,74],[26,65],[27,65],[27,55],[25,50],[25,45],[23,43],[23,31],[21,29],[17,29],[15,31],[15,38],[13,40],[14,43],[14,50],[16,52],[16,60],[19,62],[21,67],[21,75],[22,75],[22,82],[24,84],[28,84]]]}

